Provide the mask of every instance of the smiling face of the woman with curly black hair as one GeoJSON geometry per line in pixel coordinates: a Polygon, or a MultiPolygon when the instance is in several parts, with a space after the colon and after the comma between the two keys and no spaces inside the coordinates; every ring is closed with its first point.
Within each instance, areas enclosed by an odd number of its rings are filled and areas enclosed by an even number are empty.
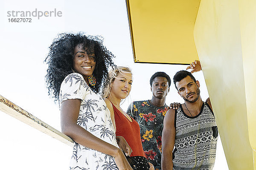
{"type": "Polygon", "coordinates": [[[88,77],[93,74],[95,68],[95,54],[87,54],[83,49],[83,45],[76,45],[74,49],[74,59],[73,59],[73,68],[74,70],[81,74],[85,81],[88,83],[88,77]]]}

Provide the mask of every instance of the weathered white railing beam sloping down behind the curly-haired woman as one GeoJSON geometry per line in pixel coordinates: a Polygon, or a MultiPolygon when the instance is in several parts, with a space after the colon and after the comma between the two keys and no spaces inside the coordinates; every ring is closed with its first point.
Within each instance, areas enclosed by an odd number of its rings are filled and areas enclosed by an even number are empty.
{"type": "Polygon", "coordinates": [[[0,111],[73,147],[73,140],[0,95],[0,111]]]}

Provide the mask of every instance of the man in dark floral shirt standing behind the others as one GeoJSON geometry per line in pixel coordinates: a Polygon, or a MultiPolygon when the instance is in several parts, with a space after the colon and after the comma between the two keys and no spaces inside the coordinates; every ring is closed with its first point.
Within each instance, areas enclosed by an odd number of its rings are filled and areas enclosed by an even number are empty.
{"type": "Polygon", "coordinates": [[[150,79],[152,99],[132,102],[127,110],[140,125],[143,150],[155,170],[161,170],[163,118],[168,110],[165,100],[170,85],[166,73],[156,72],[150,79]]]}

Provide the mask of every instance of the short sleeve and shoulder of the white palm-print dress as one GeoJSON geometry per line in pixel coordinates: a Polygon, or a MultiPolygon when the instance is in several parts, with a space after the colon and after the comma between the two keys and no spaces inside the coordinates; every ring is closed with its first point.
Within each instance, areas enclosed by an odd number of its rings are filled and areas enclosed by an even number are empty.
{"type": "Polygon", "coordinates": [[[71,73],[67,75],[61,83],[59,95],[60,104],[67,99],[81,99],[81,101],[83,101],[89,88],[81,74],[71,73]]]}

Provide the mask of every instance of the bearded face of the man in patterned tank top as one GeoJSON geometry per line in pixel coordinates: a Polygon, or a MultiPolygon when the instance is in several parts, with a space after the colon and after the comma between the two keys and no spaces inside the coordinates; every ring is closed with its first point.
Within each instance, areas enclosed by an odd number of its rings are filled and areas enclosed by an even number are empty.
{"type": "Polygon", "coordinates": [[[178,94],[186,101],[186,102],[195,102],[198,100],[200,96],[200,84],[198,81],[194,81],[191,77],[187,76],[184,79],[176,82],[176,87],[178,89],[178,94]]]}

